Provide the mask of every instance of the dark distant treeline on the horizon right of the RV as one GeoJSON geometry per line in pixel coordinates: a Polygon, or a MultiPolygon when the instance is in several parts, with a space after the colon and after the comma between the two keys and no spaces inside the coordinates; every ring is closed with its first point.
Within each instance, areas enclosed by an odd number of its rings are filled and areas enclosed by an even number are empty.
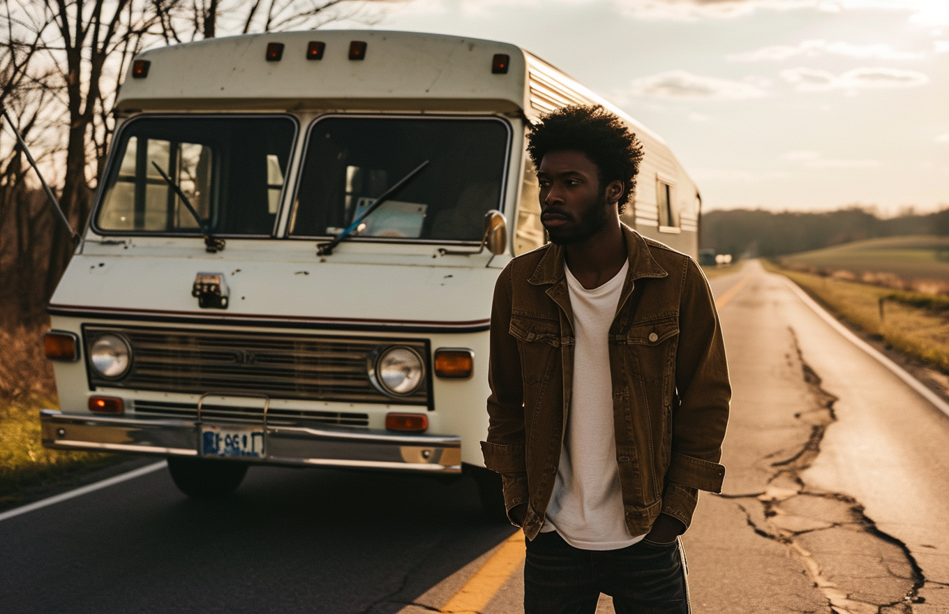
{"type": "Polygon", "coordinates": [[[949,209],[885,219],[857,207],[803,214],[734,209],[702,214],[699,228],[702,248],[768,257],[881,236],[949,234],[949,209]]]}

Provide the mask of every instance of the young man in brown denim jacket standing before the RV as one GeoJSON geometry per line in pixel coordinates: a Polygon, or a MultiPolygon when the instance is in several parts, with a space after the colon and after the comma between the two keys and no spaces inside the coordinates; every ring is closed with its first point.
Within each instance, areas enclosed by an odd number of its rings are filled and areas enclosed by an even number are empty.
{"type": "Polygon", "coordinates": [[[528,538],[528,614],[687,613],[679,535],[718,493],[731,386],[712,294],[688,256],[620,213],[642,147],[602,106],[534,126],[551,243],[494,289],[485,464],[528,538]]]}

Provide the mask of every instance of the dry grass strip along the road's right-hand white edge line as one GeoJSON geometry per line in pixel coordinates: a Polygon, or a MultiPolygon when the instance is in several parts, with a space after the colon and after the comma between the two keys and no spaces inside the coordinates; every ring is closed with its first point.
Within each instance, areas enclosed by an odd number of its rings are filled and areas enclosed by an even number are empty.
{"type": "Polygon", "coordinates": [[[885,344],[949,373],[949,312],[944,297],[925,297],[833,276],[777,270],[773,265],[768,268],[787,275],[831,311],[885,344]]]}

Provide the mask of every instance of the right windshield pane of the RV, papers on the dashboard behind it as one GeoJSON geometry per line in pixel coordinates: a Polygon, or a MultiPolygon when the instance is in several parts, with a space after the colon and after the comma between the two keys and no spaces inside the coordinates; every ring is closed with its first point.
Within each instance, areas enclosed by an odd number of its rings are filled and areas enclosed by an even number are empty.
{"type": "Polygon", "coordinates": [[[423,160],[431,163],[364,220],[354,236],[480,241],[484,214],[497,209],[508,125],[490,119],[342,118],[317,121],[309,135],[289,232],[343,232],[423,160]]]}

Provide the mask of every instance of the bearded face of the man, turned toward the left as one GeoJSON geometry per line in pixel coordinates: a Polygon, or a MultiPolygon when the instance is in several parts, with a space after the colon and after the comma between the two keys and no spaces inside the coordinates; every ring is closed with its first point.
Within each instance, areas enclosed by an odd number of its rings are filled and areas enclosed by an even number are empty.
{"type": "Polygon", "coordinates": [[[541,223],[557,245],[581,243],[602,231],[610,205],[600,190],[600,169],[583,152],[551,151],[537,170],[541,223]]]}

